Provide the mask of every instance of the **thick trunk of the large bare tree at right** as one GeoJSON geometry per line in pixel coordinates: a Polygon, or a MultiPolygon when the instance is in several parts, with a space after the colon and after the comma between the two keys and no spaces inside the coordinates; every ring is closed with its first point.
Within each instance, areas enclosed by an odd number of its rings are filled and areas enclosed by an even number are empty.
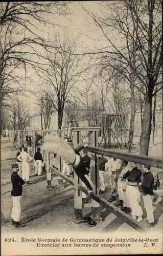
{"type": "Polygon", "coordinates": [[[145,105],[142,122],[142,134],[139,144],[141,146],[141,155],[148,156],[149,142],[152,130],[152,95],[147,93],[145,95],[145,105]]]}

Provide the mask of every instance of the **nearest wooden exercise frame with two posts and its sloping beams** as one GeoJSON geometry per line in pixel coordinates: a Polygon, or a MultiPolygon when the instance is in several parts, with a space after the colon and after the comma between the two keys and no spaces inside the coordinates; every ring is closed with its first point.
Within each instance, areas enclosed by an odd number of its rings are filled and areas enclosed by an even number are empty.
{"type": "MultiPolygon", "coordinates": [[[[109,203],[105,199],[101,198],[99,196],[99,183],[97,181],[98,179],[98,161],[97,161],[97,154],[98,155],[104,155],[108,157],[116,157],[118,159],[123,159],[127,160],[130,162],[135,162],[139,164],[150,164],[151,166],[157,167],[157,168],[163,168],[163,160],[151,158],[148,156],[141,156],[141,155],[135,155],[135,154],[130,154],[130,153],[124,153],[124,152],[118,152],[118,151],[113,151],[113,150],[106,150],[104,148],[98,148],[96,143],[97,143],[97,137],[98,137],[98,132],[100,127],[73,127],[72,128],[74,131],[74,147],[80,142],[81,138],[81,131],[85,131],[84,129],[88,130],[91,134],[90,143],[91,145],[86,147],[86,150],[91,154],[91,181],[92,181],[92,186],[93,186],[93,193],[90,194],[91,197],[91,214],[92,217],[98,220],[99,217],[99,212],[100,212],[100,205],[103,205],[105,208],[110,209],[113,214],[118,216],[119,218],[123,219],[124,222],[126,222],[128,225],[133,227],[139,232],[145,232],[147,229],[142,226],[141,223],[138,223],[136,220],[131,218],[128,214],[126,214],[124,211],[119,209],[117,206],[109,203]],[[92,129],[93,128],[93,129],[92,129]],[[96,146],[92,146],[92,144],[96,146]]],[[[74,182],[66,177],[65,175],[59,173],[55,168],[52,166],[50,167],[53,172],[55,172],[58,176],[63,178],[64,180],[68,181],[71,185],[74,186],[75,190],[75,197],[74,197],[74,220],[76,223],[81,223],[82,222],[82,210],[83,210],[83,205],[81,203],[81,191],[83,191],[85,194],[88,195],[87,189],[83,187],[78,177],[74,179],[74,182]]]]}

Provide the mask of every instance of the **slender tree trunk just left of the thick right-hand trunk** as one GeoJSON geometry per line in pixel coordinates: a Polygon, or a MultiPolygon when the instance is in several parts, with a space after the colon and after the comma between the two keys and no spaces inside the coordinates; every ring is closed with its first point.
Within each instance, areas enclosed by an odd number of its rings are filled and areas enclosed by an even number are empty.
{"type": "Polygon", "coordinates": [[[133,142],[133,130],[134,130],[134,121],[135,121],[135,99],[134,99],[134,86],[130,85],[131,92],[131,119],[130,119],[130,131],[128,138],[128,152],[131,152],[132,142],[133,142]]]}

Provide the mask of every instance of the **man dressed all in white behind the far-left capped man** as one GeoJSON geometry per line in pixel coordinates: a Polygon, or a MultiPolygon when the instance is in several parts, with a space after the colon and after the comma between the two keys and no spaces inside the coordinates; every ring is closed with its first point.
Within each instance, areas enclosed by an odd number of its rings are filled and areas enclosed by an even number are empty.
{"type": "Polygon", "coordinates": [[[27,147],[24,148],[24,151],[20,153],[20,155],[17,157],[17,160],[22,162],[22,179],[26,180],[27,184],[30,184],[29,182],[29,175],[30,175],[30,164],[29,162],[32,160],[29,153],[27,153],[27,147]]]}

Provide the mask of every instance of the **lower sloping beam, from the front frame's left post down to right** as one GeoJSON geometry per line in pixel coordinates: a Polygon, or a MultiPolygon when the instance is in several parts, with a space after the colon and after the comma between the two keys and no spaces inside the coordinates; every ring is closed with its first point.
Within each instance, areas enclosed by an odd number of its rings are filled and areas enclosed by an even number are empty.
{"type": "MultiPolygon", "coordinates": [[[[83,191],[85,194],[88,195],[87,189],[84,188],[81,185],[78,185],[78,188],[83,191]]],[[[108,201],[106,201],[105,199],[97,196],[95,193],[90,193],[89,195],[92,199],[94,199],[95,201],[97,201],[99,204],[103,205],[106,209],[111,210],[111,212],[113,212],[113,214],[115,214],[116,216],[118,216],[121,220],[123,220],[124,222],[126,222],[128,225],[130,225],[131,227],[133,227],[134,229],[136,229],[139,232],[145,232],[147,231],[147,229],[145,227],[143,227],[141,224],[139,224],[137,221],[133,220],[132,217],[130,217],[129,215],[127,215],[124,211],[122,211],[121,209],[119,209],[117,206],[109,203],[108,201]]]]}

